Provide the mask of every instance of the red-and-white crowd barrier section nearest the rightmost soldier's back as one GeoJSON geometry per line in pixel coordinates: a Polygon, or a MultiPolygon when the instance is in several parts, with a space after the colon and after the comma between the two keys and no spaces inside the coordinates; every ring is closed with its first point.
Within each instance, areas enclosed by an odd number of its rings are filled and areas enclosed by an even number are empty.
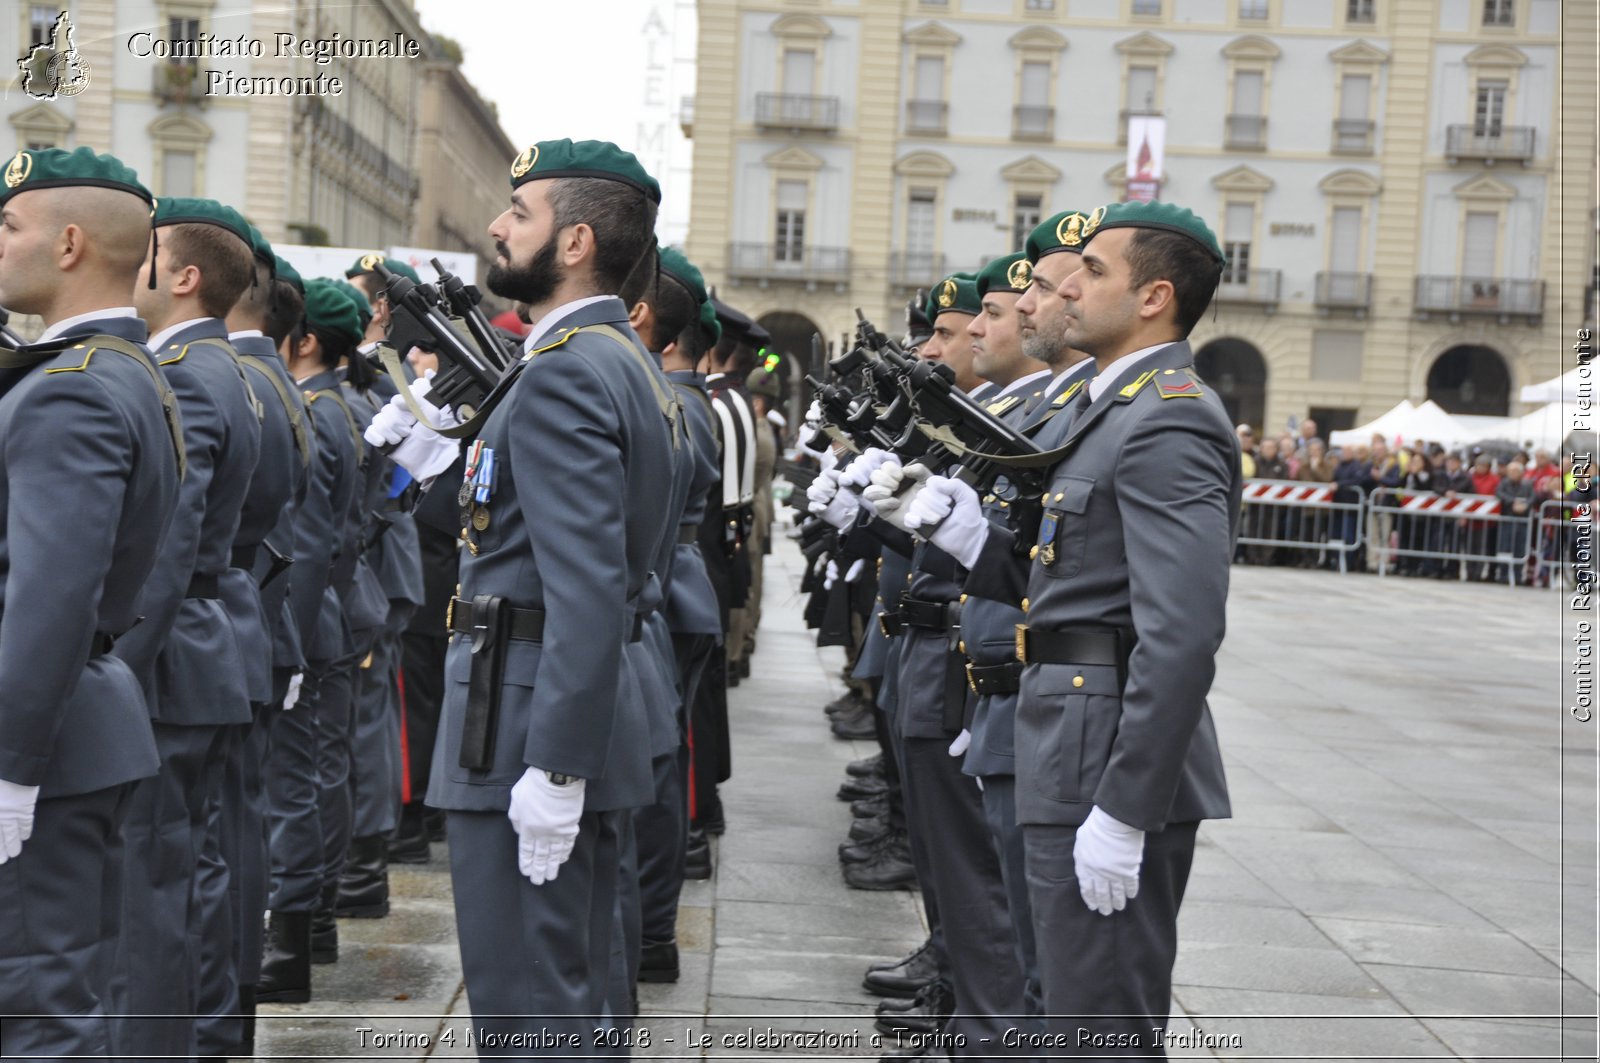
{"type": "Polygon", "coordinates": [[[1352,552],[1365,546],[1365,493],[1306,480],[1245,480],[1238,544],[1254,564],[1270,564],[1277,551],[1314,552],[1318,565],[1347,572],[1352,552]]]}

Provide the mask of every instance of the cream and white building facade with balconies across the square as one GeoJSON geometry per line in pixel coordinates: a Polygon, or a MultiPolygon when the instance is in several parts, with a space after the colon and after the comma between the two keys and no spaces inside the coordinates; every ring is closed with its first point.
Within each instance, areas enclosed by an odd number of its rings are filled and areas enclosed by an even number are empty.
{"type": "Polygon", "coordinates": [[[1235,419],[1520,413],[1592,323],[1594,38],[1558,0],[702,0],[686,250],[786,339],[898,323],[1122,199],[1154,114],[1235,419]]]}

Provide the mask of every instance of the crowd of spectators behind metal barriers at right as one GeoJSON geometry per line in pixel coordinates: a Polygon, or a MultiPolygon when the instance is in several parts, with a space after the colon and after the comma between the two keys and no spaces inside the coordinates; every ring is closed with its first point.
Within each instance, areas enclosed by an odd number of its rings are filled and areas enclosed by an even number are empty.
{"type": "MultiPolygon", "coordinates": [[[[1238,445],[1246,480],[1334,488],[1331,507],[1246,498],[1238,530],[1246,543],[1235,552],[1242,564],[1549,586],[1554,568],[1570,557],[1571,535],[1558,520],[1541,525],[1541,514],[1554,512],[1544,503],[1595,498],[1594,480],[1574,475],[1573,456],[1557,461],[1547,450],[1458,451],[1427,440],[1390,447],[1381,435],[1330,448],[1310,419],[1298,432],[1259,439],[1240,424],[1238,445]],[[1494,498],[1499,512],[1397,512],[1418,495],[1494,498]],[[1368,506],[1358,507],[1362,499],[1368,506]]],[[[1571,517],[1571,509],[1562,512],[1571,517]]]]}

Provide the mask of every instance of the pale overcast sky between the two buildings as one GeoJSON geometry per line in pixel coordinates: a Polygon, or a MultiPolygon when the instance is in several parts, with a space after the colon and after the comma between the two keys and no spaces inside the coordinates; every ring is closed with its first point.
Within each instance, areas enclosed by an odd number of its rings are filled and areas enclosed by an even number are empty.
{"type": "Polygon", "coordinates": [[[429,32],[461,43],[467,78],[518,149],[614,141],[661,181],[662,243],[683,242],[690,146],[678,101],[694,93],[693,0],[416,0],[416,10],[429,32]]]}

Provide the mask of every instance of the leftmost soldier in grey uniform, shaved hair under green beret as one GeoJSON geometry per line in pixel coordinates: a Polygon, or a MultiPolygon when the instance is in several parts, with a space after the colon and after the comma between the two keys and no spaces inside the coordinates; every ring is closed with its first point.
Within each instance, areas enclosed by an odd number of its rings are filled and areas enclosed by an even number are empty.
{"type": "Polygon", "coordinates": [[[86,147],[18,152],[3,179],[0,303],[45,331],[0,351],[0,1055],[109,1057],[118,828],[160,757],[107,652],[138,623],[182,435],[131,306],[150,194],[86,147]]]}

